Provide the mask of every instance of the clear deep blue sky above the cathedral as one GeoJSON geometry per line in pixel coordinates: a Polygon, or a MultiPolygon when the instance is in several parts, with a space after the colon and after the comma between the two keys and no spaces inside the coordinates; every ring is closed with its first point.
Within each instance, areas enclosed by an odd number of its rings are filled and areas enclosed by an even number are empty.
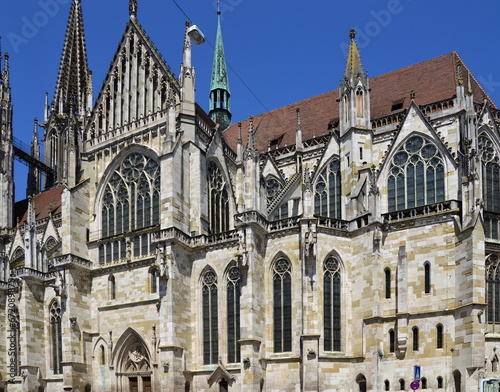
{"type": "MultiPolygon", "coordinates": [[[[43,117],[45,91],[52,99],[71,1],[0,0],[3,52],[10,54],[14,133],[27,143],[33,118],[43,117]]],[[[176,1],[208,41],[193,49],[197,100],[207,109],[217,2],[176,1]]],[[[186,16],[173,0],[138,2],[139,22],[178,74],[186,16]]],[[[82,4],[97,97],[128,20],[128,0],[82,4]]],[[[336,89],[351,27],[357,29],[370,76],[455,50],[500,105],[498,0],[221,0],[221,10],[233,121],[336,89]]],[[[24,198],[21,164],[16,165],[16,184],[16,199],[24,198]]]]}

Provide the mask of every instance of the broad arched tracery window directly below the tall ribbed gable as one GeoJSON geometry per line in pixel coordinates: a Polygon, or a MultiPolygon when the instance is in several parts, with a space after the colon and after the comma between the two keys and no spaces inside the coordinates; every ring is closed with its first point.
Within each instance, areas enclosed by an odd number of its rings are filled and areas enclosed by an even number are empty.
{"type": "Polygon", "coordinates": [[[102,199],[102,237],[157,225],[160,166],[140,153],[127,156],[112,174],[102,199]]]}

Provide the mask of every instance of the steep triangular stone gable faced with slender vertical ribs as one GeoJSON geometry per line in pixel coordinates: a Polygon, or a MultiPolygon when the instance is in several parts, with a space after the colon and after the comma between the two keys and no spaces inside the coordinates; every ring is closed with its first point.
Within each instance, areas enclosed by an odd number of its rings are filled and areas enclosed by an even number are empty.
{"type": "Polygon", "coordinates": [[[108,70],[84,141],[95,145],[165,118],[169,103],[180,101],[180,90],[179,81],[153,43],[131,20],[108,70]]]}

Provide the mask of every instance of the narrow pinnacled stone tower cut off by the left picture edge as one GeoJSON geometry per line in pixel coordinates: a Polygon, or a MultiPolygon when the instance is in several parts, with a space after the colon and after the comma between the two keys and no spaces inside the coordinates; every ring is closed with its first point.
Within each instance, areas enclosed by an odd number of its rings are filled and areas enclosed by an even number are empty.
{"type": "MultiPolygon", "coordinates": [[[[14,147],[12,145],[12,95],[9,55],[5,53],[2,70],[0,53],[0,233],[11,228],[14,203],[14,147]]],[[[1,241],[1,239],[0,239],[1,241]]]]}

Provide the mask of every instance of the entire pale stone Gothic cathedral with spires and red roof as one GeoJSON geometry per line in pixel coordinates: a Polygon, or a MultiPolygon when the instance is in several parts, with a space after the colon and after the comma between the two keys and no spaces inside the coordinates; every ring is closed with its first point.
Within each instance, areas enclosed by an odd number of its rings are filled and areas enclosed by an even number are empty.
{"type": "Polygon", "coordinates": [[[95,97],[71,1],[29,151],[0,57],[0,392],[498,390],[500,110],[459,55],[369,78],[352,30],[337,90],[233,123],[220,16],[207,112],[193,26],[175,76],[129,8],[95,97]]]}

